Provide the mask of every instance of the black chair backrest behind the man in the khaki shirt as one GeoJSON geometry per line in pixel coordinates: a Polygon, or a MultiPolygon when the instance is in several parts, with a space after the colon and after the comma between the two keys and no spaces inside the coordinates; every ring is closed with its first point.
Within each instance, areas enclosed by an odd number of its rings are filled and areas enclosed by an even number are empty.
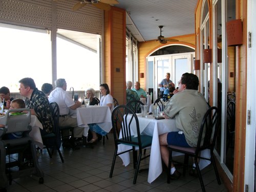
{"type": "Polygon", "coordinates": [[[220,114],[216,106],[209,108],[202,120],[197,143],[197,152],[209,148],[214,150],[217,133],[220,127],[220,114]],[[204,136],[204,137],[203,137],[204,136]]]}

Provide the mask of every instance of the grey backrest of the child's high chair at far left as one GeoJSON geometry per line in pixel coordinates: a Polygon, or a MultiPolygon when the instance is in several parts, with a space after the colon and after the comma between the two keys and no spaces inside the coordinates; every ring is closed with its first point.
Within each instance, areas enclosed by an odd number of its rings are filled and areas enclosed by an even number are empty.
{"type": "Polygon", "coordinates": [[[31,130],[31,126],[29,125],[31,122],[31,111],[28,108],[8,110],[4,118],[5,133],[29,132],[31,130]],[[23,111],[27,111],[28,113],[12,115],[12,113],[23,111]]]}

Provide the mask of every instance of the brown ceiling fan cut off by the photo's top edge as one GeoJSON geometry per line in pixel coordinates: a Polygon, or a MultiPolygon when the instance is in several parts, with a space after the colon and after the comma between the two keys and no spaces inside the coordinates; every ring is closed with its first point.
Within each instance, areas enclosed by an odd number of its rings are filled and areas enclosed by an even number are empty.
{"type": "MultiPolygon", "coordinates": [[[[53,0],[58,1],[58,0],[53,0]]],[[[76,3],[73,7],[73,11],[77,11],[82,7],[86,6],[87,4],[92,4],[93,6],[109,11],[111,9],[111,5],[119,4],[117,0],[78,0],[79,2],[76,3]]]]}

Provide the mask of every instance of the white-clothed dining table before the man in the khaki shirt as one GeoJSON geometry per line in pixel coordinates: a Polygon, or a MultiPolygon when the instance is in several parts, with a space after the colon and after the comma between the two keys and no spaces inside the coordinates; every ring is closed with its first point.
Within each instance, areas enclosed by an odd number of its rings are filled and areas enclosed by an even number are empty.
{"type": "MultiPolygon", "coordinates": [[[[131,118],[131,115],[129,115],[131,118]]],[[[152,183],[154,180],[156,180],[162,173],[162,160],[161,160],[161,153],[160,153],[160,144],[159,144],[159,135],[168,133],[168,132],[176,132],[180,131],[176,127],[175,119],[155,119],[153,115],[147,115],[146,117],[142,117],[141,114],[137,114],[138,121],[139,121],[139,128],[140,128],[140,134],[141,135],[148,135],[152,136],[152,145],[151,145],[151,151],[150,151],[150,164],[148,168],[148,177],[147,182],[152,183]]],[[[128,117],[129,118],[129,117],[128,117]]],[[[131,127],[131,132],[134,136],[136,136],[136,124],[135,121],[132,121],[134,125],[131,127]]],[[[121,136],[121,133],[120,133],[121,136]]],[[[123,152],[126,150],[129,150],[131,146],[119,144],[118,145],[118,153],[123,152]]],[[[173,156],[178,155],[184,155],[181,153],[173,152],[173,156]]],[[[202,157],[209,158],[210,157],[210,151],[204,150],[201,153],[202,157]]],[[[127,166],[130,164],[130,153],[124,153],[119,155],[119,157],[123,161],[123,165],[127,166]]],[[[206,167],[208,164],[210,164],[210,161],[201,159],[199,163],[200,169],[206,167]]]]}

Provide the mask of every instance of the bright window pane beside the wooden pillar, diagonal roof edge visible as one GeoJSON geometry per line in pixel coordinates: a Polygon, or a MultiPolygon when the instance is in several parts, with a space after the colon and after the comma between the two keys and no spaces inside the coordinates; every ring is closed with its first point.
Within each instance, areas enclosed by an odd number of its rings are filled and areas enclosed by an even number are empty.
{"type": "Polygon", "coordinates": [[[76,91],[87,88],[99,90],[99,54],[95,50],[98,47],[98,35],[65,30],[68,33],[64,33],[66,36],[63,37],[64,30],[58,29],[58,33],[59,31],[61,35],[57,35],[57,78],[66,79],[67,90],[71,87],[76,91]]]}

